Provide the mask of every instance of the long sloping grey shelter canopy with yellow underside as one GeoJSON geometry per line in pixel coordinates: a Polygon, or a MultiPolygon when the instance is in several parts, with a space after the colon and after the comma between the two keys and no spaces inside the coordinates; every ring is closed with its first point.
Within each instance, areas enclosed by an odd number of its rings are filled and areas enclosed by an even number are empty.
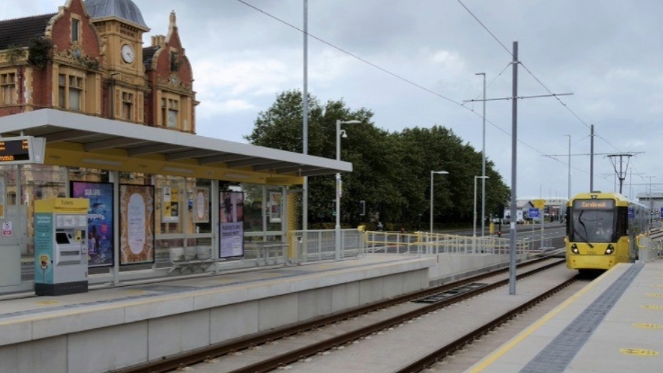
{"type": "Polygon", "coordinates": [[[55,109],[0,117],[2,137],[46,138],[44,164],[191,178],[302,184],[352,164],[55,109]]]}

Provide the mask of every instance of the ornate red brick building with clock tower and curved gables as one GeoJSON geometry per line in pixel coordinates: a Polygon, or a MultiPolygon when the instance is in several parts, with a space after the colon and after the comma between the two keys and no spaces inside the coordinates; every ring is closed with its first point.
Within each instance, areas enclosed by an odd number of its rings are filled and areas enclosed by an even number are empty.
{"type": "Polygon", "coordinates": [[[131,0],[66,0],[52,14],[0,21],[0,116],[57,108],[195,133],[175,12],[144,48],[149,30],[131,0]]]}

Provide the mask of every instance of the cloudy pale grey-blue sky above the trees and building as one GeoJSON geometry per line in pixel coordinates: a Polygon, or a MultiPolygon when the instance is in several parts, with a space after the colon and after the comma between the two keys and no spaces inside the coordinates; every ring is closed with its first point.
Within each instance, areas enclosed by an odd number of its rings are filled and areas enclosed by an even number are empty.
{"type": "MultiPolygon", "coordinates": [[[[134,0],[151,28],[144,46],[166,35],[175,10],[201,102],[198,135],[246,142],[276,95],[302,90],[304,1],[134,0]]],[[[0,19],[65,3],[3,0],[0,19]]],[[[518,100],[517,197],[566,198],[566,135],[571,194],[588,191],[591,124],[593,189],[618,190],[607,155],[632,154],[622,157],[623,193],[650,182],[660,193],[662,14],[658,0],[308,0],[308,90],[370,109],[387,131],[441,125],[481,151],[483,106],[463,102],[483,95],[475,73],[486,73],[488,99],[512,96],[517,41],[519,96],[573,93],[518,100]]],[[[486,156],[508,185],[511,135],[511,100],[487,102],[486,156]]]]}

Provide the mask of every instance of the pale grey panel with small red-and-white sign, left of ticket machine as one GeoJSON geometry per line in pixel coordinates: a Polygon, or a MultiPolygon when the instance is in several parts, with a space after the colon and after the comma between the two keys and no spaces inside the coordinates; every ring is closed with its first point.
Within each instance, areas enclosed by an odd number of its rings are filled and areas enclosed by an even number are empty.
{"type": "Polygon", "coordinates": [[[21,251],[26,249],[28,209],[24,204],[3,204],[0,212],[0,293],[2,287],[21,285],[21,251]]]}

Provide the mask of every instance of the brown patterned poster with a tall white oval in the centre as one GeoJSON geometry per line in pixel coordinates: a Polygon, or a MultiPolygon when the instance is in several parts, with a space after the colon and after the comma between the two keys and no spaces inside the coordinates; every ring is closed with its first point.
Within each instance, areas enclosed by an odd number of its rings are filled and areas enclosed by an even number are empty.
{"type": "Polygon", "coordinates": [[[119,264],[154,262],[154,187],[119,185],[119,264]]]}

